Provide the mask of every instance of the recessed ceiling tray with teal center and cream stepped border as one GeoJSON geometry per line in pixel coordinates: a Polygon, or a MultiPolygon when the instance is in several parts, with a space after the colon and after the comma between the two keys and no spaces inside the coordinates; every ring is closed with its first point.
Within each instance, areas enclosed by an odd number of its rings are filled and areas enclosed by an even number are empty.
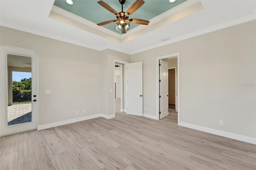
{"type": "MultiPolygon", "coordinates": [[[[139,8],[131,16],[134,18],[136,17],[140,19],[149,20],[150,23],[148,24],[148,26],[131,23],[133,29],[130,29],[128,32],[126,32],[126,34],[119,34],[119,32],[116,32],[115,24],[106,25],[106,27],[108,28],[104,28],[103,26],[97,25],[97,23],[104,22],[106,20],[111,20],[111,18],[115,19],[115,16],[108,10],[100,6],[97,3],[97,1],[98,0],[76,0],[74,1],[74,5],[68,5],[64,0],[55,0],[54,4],[64,3],[63,6],[65,6],[65,9],[69,8],[71,12],[63,9],[64,7],[60,8],[53,4],[52,10],[49,14],[49,18],[58,20],[60,22],[63,22],[70,26],[74,26],[76,28],[80,28],[82,30],[101,36],[103,38],[107,38],[108,40],[111,40],[113,42],[125,43],[130,40],[133,40],[134,38],[142,36],[148,32],[152,32],[167,24],[180,20],[181,18],[190,16],[191,14],[194,14],[203,9],[200,0],[176,0],[176,6],[174,4],[172,5],[172,3],[169,3],[167,0],[146,0],[145,3],[142,5],[143,7],[145,4],[148,4],[145,5],[146,10],[141,7],[142,9],[139,8]],[[86,9],[92,8],[92,12],[84,12],[86,11],[84,10],[85,7],[77,7],[77,10],[72,8],[72,6],[75,6],[76,4],[78,6],[82,6],[82,4],[80,3],[82,3],[85,6],[87,4],[86,9]],[[156,4],[159,5],[157,6],[157,8],[156,4]],[[165,6],[169,6],[170,9],[166,8],[165,6]],[[83,17],[72,13],[74,11],[76,11],[76,14],[79,14],[83,17]],[[91,21],[85,18],[90,18],[91,21]]],[[[106,0],[106,2],[108,2],[110,6],[115,8],[115,10],[118,6],[120,7],[118,0],[106,0]]],[[[135,0],[127,0],[127,4],[126,7],[124,7],[124,11],[126,10],[126,8],[129,8],[130,5],[132,5],[134,2],[135,0]]]]}

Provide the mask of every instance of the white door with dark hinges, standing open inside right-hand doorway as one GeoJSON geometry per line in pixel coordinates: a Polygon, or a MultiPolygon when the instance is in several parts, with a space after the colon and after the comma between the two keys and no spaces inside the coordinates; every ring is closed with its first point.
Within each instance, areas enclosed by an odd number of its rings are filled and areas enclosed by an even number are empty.
{"type": "Polygon", "coordinates": [[[168,112],[168,63],[160,59],[160,119],[163,119],[168,112]]]}

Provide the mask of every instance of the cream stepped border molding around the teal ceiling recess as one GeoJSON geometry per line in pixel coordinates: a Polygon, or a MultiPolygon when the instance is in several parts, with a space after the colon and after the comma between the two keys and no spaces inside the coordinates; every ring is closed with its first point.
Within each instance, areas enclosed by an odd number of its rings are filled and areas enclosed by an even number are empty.
{"type": "Polygon", "coordinates": [[[187,0],[186,2],[183,2],[182,4],[179,4],[178,6],[175,6],[174,8],[152,18],[149,20],[150,24],[148,26],[140,25],[128,31],[126,34],[121,35],[102,26],[98,26],[85,18],[77,16],[55,5],[52,6],[49,18],[80,28],[81,30],[117,43],[125,43],[162,26],[175,22],[176,20],[180,20],[181,18],[194,14],[202,9],[203,6],[201,0],[187,0]]]}

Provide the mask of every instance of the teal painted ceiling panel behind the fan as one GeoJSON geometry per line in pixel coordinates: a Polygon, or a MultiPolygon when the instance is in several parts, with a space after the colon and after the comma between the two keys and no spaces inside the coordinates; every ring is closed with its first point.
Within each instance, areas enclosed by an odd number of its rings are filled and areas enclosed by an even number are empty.
{"type": "MultiPolygon", "coordinates": [[[[69,5],[65,0],[55,0],[54,5],[62,8],[68,12],[71,12],[77,16],[80,16],[86,20],[94,22],[95,24],[115,20],[116,16],[110,13],[108,10],[100,6],[97,2],[99,0],[73,0],[74,5],[69,5]]],[[[103,0],[106,4],[111,6],[117,12],[122,11],[122,6],[119,3],[119,0],[103,0]]],[[[123,5],[124,12],[135,2],[136,0],[126,0],[123,5]]],[[[169,3],[168,0],[144,0],[145,3],[136,10],[129,18],[138,18],[142,20],[151,20],[152,18],[178,6],[179,4],[187,0],[176,0],[173,3],[169,3]]],[[[130,30],[139,26],[139,24],[132,23],[130,24],[130,30]]],[[[104,25],[103,27],[122,34],[120,31],[116,30],[116,24],[111,23],[104,25]]]]}

